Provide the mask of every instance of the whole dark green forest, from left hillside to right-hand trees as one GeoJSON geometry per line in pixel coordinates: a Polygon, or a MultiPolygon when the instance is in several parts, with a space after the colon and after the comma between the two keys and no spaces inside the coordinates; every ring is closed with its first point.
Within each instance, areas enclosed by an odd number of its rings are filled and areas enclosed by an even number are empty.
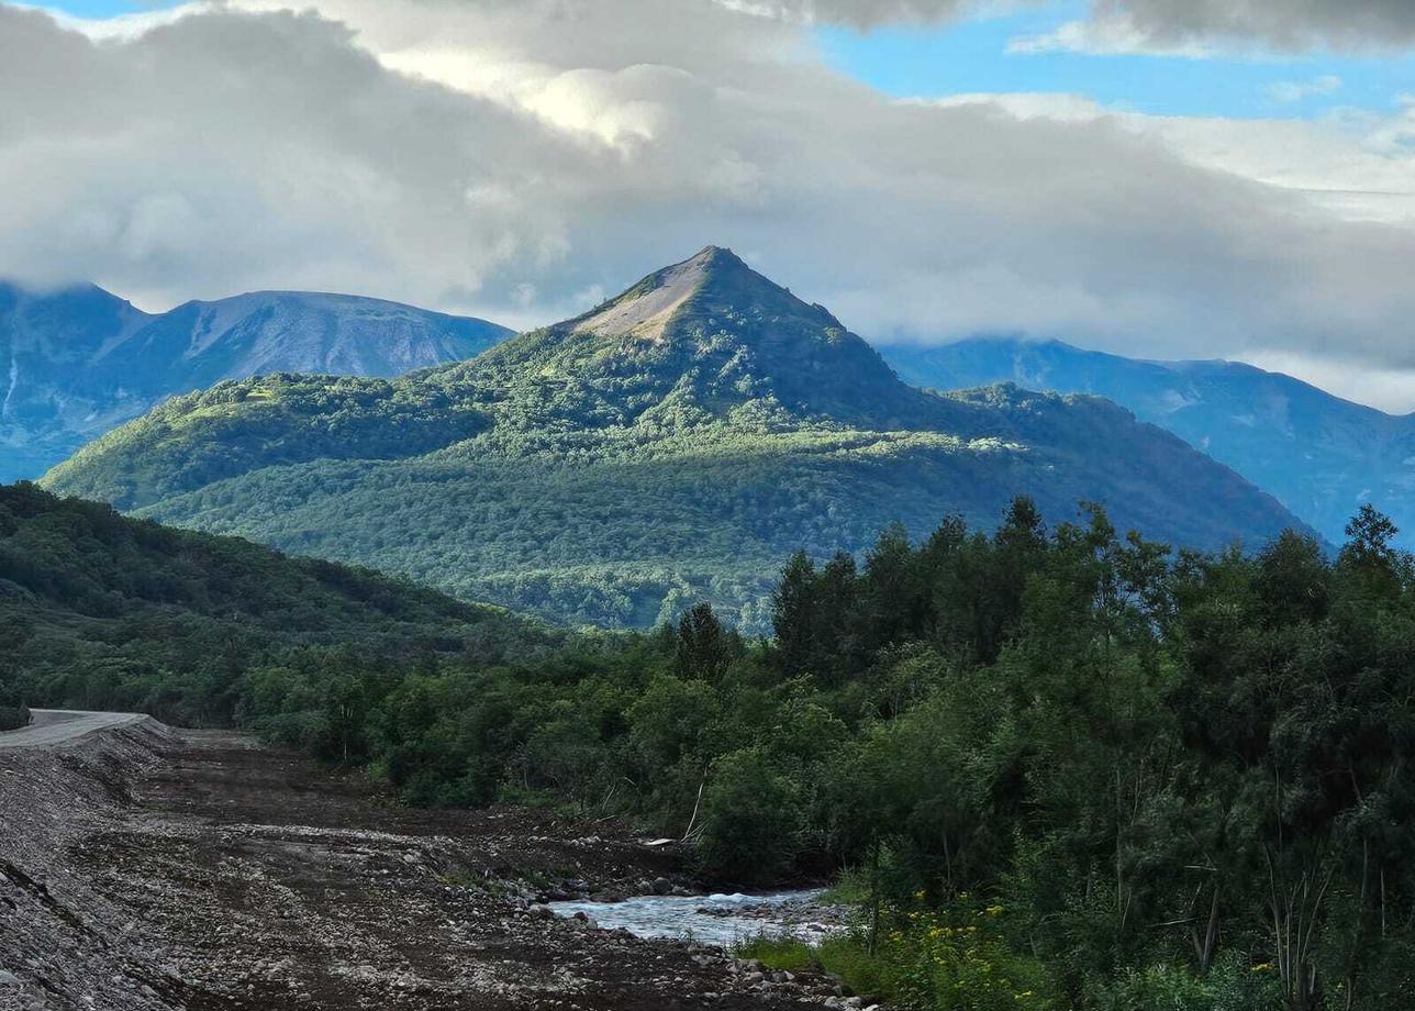
{"type": "Polygon", "coordinates": [[[18,486],[13,702],[235,724],[409,804],[553,804],[705,878],[836,876],[849,937],[758,942],[903,1007],[1326,1011],[1415,984],[1415,568],[1170,551],[1016,500],[801,552],[771,637],[710,605],[570,637],[18,486]]]}

